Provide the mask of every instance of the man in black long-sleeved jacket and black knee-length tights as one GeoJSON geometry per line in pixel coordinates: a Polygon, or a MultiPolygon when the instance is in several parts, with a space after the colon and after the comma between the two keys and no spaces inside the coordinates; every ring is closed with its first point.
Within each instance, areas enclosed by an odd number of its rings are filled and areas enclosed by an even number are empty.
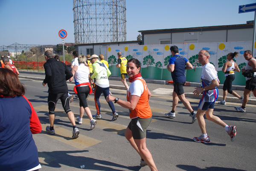
{"type": "Polygon", "coordinates": [[[67,80],[73,76],[71,71],[67,68],[66,64],[54,59],[54,54],[52,51],[47,50],[44,53],[46,63],[44,63],[45,78],[42,82],[43,86],[48,84],[48,109],[49,109],[49,122],[50,126],[46,127],[46,131],[51,135],[55,134],[54,130],[54,119],[55,119],[55,106],[58,99],[61,99],[61,104],[67,117],[69,118],[71,124],[73,125],[73,135],[72,139],[78,138],[79,130],[76,128],[76,122],[73,112],[69,107],[68,99],[68,87],[67,80]]]}

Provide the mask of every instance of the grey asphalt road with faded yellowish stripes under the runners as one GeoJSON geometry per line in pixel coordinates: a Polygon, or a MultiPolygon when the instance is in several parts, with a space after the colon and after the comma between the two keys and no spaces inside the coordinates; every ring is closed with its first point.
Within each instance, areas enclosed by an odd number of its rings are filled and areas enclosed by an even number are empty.
{"type": "MultiPolygon", "coordinates": [[[[55,135],[49,135],[47,90],[42,81],[20,78],[26,87],[26,97],[34,106],[42,124],[42,132],[33,135],[38,147],[40,171],[76,171],[84,165],[87,171],[149,171],[148,166],[140,167],[140,157],[124,137],[130,121],[128,109],[115,104],[119,118],[111,121],[111,110],[104,96],[101,97],[102,120],[90,130],[89,120],[84,115],[78,125],[80,135],[72,140],[72,126],[62,109],[61,103],[55,109],[55,135]]],[[[73,84],[68,84],[73,94],[73,84]]],[[[126,90],[111,89],[113,96],[125,99],[126,90]]],[[[198,122],[191,123],[189,112],[179,103],[176,118],[165,117],[171,110],[172,96],[159,94],[151,89],[150,106],[153,120],[147,129],[147,147],[159,171],[255,171],[256,137],[253,135],[256,115],[255,105],[248,104],[246,113],[234,111],[239,103],[229,102],[226,106],[215,105],[214,114],[228,125],[237,126],[237,137],[230,141],[224,128],[206,120],[210,144],[196,143],[193,137],[201,135],[198,122]]],[[[198,99],[188,98],[196,111],[198,99]]],[[[88,98],[89,108],[96,113],[93,95],[88,98]]],[[[15,107],[15,104],[12,104],[15,107]]],[[[79,115],[79,100],[75,99],[70,108],[79,115]]]]}

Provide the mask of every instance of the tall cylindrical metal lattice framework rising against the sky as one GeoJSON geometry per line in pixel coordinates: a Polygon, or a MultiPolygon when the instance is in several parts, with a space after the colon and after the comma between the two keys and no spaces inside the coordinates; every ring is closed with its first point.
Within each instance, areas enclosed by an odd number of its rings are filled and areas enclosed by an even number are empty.
{"type": "Polygon", "coordinates": [[[75,43],[126,41],[125,0],[73,0],[75,43]]]}

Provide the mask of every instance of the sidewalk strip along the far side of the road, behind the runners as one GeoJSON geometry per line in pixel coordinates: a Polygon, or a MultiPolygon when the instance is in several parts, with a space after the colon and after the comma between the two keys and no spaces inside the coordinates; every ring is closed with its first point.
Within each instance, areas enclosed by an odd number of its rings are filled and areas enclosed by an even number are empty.
{"type": "MultiPolygon", "coordinates": [[[[27,78],[27,79],[33,79],[33,80],[40,80],[43,81],[45,74],[44,73],[37,73],[37,72],[29,72],[29,71],[19,71],[20,75],[18,76],[19,78],[27,78]]],[[[120,89],[120,90],[125,90],[125,86],[121,82],[121,77],[112,77],[110,76],[109,78],[109,84],[110,88],[113,89],[120,89]]],[[[126,78],[127,84],[130,85],[128,78],[126,78]]],[[[167,96],[167,97],[172,97],[172,92],[173,92],[173,84],[166,84],[168,81],[165,80],[152,80],[152,79],[145,79],[147,83],[147,87],[151,91],[153,95],[161,95],[161,96],[167,96]]],[[[71,83],[68,81],[68,83],[71,83]]],[[[187,98],[196,98],[196,99],[201,99],[202,95],[195,96],[193,94],[193,91],[195,90],[195,87],[201,86],[201,83],[195,83],[195,82],[186,82],[186,86],[184,86],[184,92],[187,98]]],[[[218,100],[221,101],[223,97],[223,90],[222,90],[223,84],[220,84],[218,87],[218,100]]],[[[244,94],[244,87],[245,86],[236,86],[233,85],[233,91],[238,93],[240,96],[243,96],[244,94]]],[[[251,94],[252,97],[249,97],[248,103],[247,104],[256,104],[256,98],[253,96],[253,93],[251,94]]],[[[241,101],[234,97],[231,94],[227,94],[226,98],[227,102],[234,102],[234,103],[241,103],[241,101]]]]}

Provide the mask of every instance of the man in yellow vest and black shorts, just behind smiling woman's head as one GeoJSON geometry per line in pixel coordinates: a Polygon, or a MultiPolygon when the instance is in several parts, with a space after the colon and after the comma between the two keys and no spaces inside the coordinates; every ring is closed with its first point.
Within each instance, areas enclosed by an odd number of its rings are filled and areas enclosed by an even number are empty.
{"type": "Polygon", "coordinates": [[[125,85],[126,90],[129,89],[128,84],[126,83],[126,64],[127,64],[127,59],[125,57],[122,57],[122,52],[117,53],[118,59],[117,59],[117,64],[116,67],[120,68],[121,72],[121,81],[125,85]]]}

